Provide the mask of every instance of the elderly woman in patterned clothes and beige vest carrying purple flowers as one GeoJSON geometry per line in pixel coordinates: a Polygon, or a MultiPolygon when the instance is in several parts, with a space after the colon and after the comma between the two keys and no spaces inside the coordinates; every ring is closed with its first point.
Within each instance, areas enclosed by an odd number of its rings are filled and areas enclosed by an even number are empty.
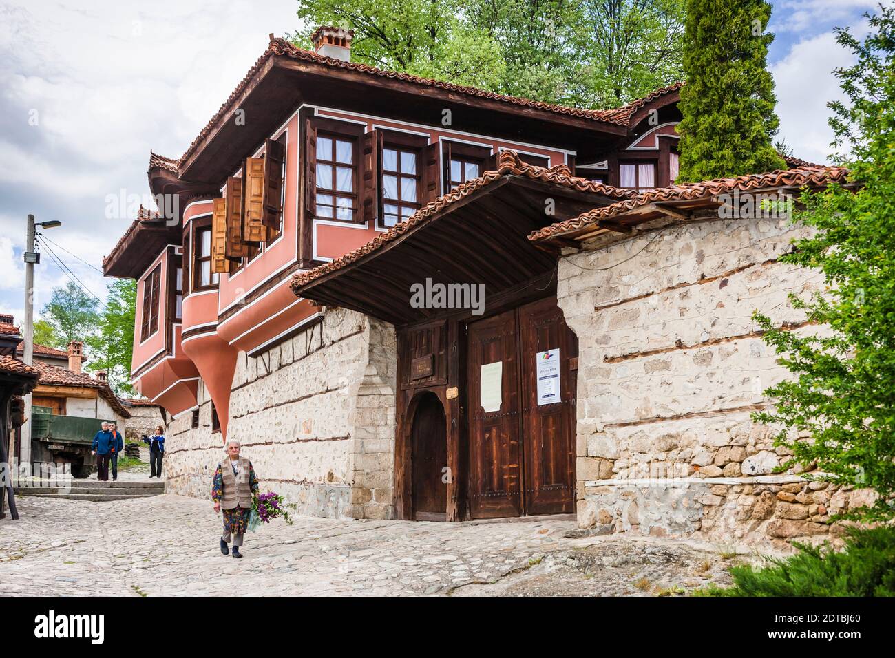
{"type": "Polygon", "coordinates": [[[239,456],[239,441],[226,442],[227,458],[217,465],[215,479],[211,484],[211,500],[215,502],[215,512],[224,509],[224,534],[221,535],[221,552],[227,555],[227,543],[233,536],[233,557],[242,558],[239,547],[243,545],[243,534],[249,525],[251,494],[258,493],[258,478],[251,462],[239,456]]]}

